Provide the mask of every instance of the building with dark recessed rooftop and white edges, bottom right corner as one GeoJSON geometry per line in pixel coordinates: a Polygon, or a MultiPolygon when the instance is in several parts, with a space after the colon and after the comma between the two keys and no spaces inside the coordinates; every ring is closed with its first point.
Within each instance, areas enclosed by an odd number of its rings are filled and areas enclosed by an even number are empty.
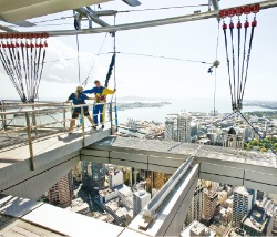
{"type": "Polygon", "coordinates": [[[273,218],[263,207],[255,206],[242,219],[242,228],[249,236],[271,236],[273,218]]]}

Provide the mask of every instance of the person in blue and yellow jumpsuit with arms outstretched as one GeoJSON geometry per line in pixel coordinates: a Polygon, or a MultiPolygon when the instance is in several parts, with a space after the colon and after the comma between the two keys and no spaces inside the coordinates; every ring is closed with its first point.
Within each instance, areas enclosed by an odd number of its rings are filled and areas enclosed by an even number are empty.
{"type": "Polygon", "coordinates": [[[99,125],[99,114],[100,114],[100,123],[102,124],[102,128],[104,128],[105,123],[105,102],[106,95],[114,94],[116,89],[110,90],[101,85],[99,80],[94,81],[95,86],[91,90],[85,90],[83,94],[93,94],[95,95],[95,105],[93,106],[93,122],[95,126],[99,125]],[[99,104],[100,103],[100,104],[99,104]]]}

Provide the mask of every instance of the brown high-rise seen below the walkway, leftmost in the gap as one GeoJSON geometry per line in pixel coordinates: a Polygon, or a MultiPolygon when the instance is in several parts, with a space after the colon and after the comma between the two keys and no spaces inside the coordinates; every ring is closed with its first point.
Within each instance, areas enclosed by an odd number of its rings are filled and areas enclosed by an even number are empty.
{"type": "Polygon", "coordinates": [[[48,199],[51,204],[68,207],[73,198],[73,176],[69,172],[48,192],[48,199]]]}

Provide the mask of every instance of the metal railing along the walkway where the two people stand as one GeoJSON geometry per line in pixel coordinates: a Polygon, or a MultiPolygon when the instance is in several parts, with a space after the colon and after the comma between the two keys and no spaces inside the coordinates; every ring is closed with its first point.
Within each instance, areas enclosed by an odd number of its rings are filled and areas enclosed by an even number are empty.
{"type": "Polygon", "coordinates": [[[88,107],[90,116],[93,118],[93,106],[100,104],[106,105],[100,115],[107,115],[107,120],[105,120],[104,124],[110,124],[112,133],[114,126],[113,121],[116,120],[116,117],[113,116],[113,102],[73,105],[65,102],[20,103],[18,101],[0,101],[0,148],[10,148],[10,145],[16,144],[28,144],[31,169],[33,171],[33,142],[38,138],[47,138],[52,134],[66,132],[70,121],[72,120],[73,110],[81,107],[81,114],[75,118],[79,120],[80,125],[78,125],[73,132],[80,131],[81,127],[82,141],[83,145],[85,145],[86,126],[83,113],[84,107],[88,107]],[[3,136],[7,140],[4,140],[3,136]]]}

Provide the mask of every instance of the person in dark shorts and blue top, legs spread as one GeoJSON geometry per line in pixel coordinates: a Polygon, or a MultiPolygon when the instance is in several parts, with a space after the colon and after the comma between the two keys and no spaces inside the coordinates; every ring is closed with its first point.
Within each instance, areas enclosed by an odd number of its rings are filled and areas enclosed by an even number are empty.
{"type": "MultiPolygon", "coordinates": [[[[79,104],[85,104],[85,100],[95,100],[94,97],[89,97],[85,94],[82,94],[83,87],[78,86],[75,93],[71,93],[68,101],[65,103],[69,103],[72,101],[74,105],[79,104]]],[[[82,109],[81,107],[74,107],[72,112],[72,118],[70,121],[70,130],[69,133],[72,133],[73,127],[75,126],[75,120],[79,117],[81,114],[82,109]]],[[[88,120],[91,122],[92,126],[94,127],[93,120],[90,116],[89,107],[84,106],[83,107],[84,116],[88,117],[88,120]]]]}

